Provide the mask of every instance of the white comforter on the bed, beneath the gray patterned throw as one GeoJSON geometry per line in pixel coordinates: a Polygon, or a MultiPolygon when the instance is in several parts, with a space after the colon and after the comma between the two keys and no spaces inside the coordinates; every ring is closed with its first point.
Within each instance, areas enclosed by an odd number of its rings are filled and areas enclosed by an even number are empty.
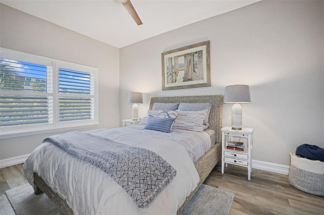
{"type": "Polygon", "coordinates": [[[25,178],[33,185],[32,174],[37,173],[54,192],[66,199],[74,214],[176,214],[199,182],[192,159],[196,160],[201,155],[190,158],[188,151],[205,150],[202,152],[205,153],[211,145],[205,132],[174,130],[167,134],[133,126],[89,133],[152,150],[173,166],[177,175],[151,204],[139,208],[106,173],[51,143],[43,143],[27,158],[23,168],[25,178]],[[204,140],[205,146],[193,150],[190,145],[195,139],[204,140]]]}

